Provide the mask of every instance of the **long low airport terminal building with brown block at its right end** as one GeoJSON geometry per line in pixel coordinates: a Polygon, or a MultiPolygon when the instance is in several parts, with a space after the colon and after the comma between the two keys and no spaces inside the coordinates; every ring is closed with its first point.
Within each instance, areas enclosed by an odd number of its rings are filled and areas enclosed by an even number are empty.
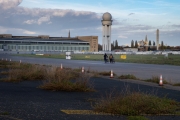
{"type": "Polygon", "coordinates": [[[98,52],[98,36],[49,37],[0,34],[2,51],[98,52]]]}

